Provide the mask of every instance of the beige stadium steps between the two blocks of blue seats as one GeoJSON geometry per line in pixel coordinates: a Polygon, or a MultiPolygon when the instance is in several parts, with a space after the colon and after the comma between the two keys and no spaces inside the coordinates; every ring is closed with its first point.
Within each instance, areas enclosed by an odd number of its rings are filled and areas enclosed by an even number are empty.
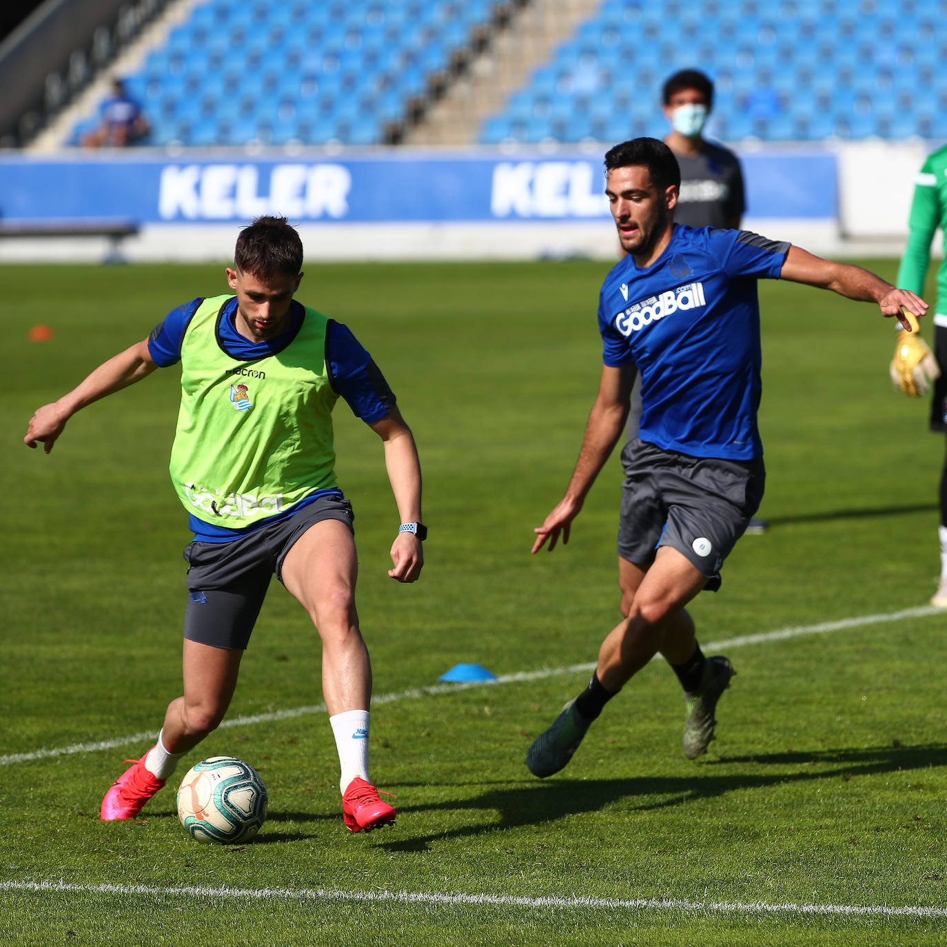
{"type": "Polygon", "coordinates": [[[567,40],[599,0],[532,0],[499,31],[469,68],[404,135],[405,145],[464,146],[476,141],[487,116],[524,85],[556,45],[567,40]]]}

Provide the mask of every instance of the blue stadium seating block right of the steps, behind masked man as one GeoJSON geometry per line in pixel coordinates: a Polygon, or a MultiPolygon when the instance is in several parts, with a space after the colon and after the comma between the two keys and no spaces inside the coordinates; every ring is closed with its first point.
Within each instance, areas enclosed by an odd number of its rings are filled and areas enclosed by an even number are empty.
{"type": "Polygon", "coordinates": [[[728,141],[947,138],[943,0],[604,0],[480,128],[483,144],[662,137],[661,83],[715,81],[728,141]]]}

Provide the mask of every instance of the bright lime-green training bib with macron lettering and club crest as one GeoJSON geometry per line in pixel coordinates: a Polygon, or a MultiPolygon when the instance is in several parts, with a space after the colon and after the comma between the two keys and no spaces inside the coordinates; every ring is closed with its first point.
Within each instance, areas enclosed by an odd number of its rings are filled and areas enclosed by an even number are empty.
{"type": "Polygon", "coordinates": [[[336,486],[322,313],[307,308],[281,351],[242,361],[221,347],[232,295],[205,299],[181,343],[181,409],[170,474],[184,508],[207,523],[248,527],[336,486]]]}

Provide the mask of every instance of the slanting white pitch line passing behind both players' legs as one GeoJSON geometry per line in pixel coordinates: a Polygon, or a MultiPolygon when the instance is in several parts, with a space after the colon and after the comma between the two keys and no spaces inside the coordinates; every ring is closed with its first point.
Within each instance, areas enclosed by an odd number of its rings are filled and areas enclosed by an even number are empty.
{"type": "MultiPolygon", "coordinates": [[[[727,638],[724,641],[711,641],[703,647],[705,650],[721,648],[739,648],[742,645],[762,644],[766,641],[783,641],[787,638],[801,637],[806,634],[828,634],[843,631],[847,628],[861,628],[866,625],[880,625],[891,621],[901,621],[902,618],[923,618],[930,615],[945,615],[943,609],[933,605],[923,605],[920,608],[905,608],[900,612],[887,612],[882,615],[864,615],[854,618],[842,618],[838,621],[825,621],[818,625],[798,625],[795,628],[781,628],[775,632],[761,632],[759,634],[743,634],[736,638],[727,638]]],[[[538,681],[545,677],[554,677],[557,674],[578,674],[595,669],[594,663],[573,664],[567,668],[540,668],[539,670],[521,670],[514,674],[503,674],[493,681],[469,681],[463,684],[435,684],[429,688],[411,688],[397,690],[388,694],[378,694],[372,697],[372,704],[394,704],[397,701],[418,700],[421,697],[430,697],[436,694],[454,693],[457,690],[470,688],[495,687],[499,684],[516,684],[521,681],[538,681]]],[[[278,720],[291,720],[294,717],[307,717],[313,714],[325,713],[325,704],[291,707],[286,710],[272,710],[267,713],[252,714],[245,717],[234,717],[223,721],[220,728],[233,726],[249,726],[250,724],[269,724],[278,720]]],[[[89,743],[72,743],[69,746],[50,747],[45,750],[33,750],[30,753],[9,753],[0,756],[0,766],[9,766],[12,763],[29,762],[33,759],[51,759],[65,757],[73,753],[94,753],[98,750],[114,750],[119,746],[128,746],[132,743],[141,743],[154,740],[154,731],[134,733],[131,736],[115,737],[112,740],[100,740],[89,743]]]]}

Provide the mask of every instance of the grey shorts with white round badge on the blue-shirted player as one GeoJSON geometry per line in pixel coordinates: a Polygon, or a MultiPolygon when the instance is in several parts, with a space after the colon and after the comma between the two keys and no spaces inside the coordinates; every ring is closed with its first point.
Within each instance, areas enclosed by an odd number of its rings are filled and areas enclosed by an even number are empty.
{"type": "Polygon", "coordinates": [[[618,555],[635,565],[670,545],[720,588],[724,559],[759,509],[766,482],[762,458],[722,460],[665,451],[635,438],[621,452],[618,555]]]}

